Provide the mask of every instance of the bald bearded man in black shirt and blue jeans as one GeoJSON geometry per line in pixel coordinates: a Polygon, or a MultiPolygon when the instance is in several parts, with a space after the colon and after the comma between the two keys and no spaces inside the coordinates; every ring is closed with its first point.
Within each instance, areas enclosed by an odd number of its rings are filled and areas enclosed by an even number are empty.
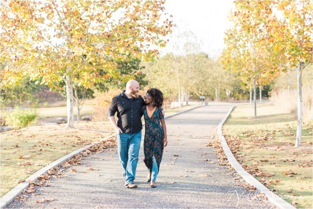
{"type": "MultiPolygon", "coordinates": [[[[117,150],[126,188],[137,187],[134,180],[141,143],[141,108],[146,105],[138,92],[139,83],[136,80],[129,80],[126,90],[112,99],[108,110],[108,117],[116,131],[117,150]],[[117,124],[115,112],[117,112],[117,124]]],[[[164,113],[163,110],[163,115],[164,113]]]]}

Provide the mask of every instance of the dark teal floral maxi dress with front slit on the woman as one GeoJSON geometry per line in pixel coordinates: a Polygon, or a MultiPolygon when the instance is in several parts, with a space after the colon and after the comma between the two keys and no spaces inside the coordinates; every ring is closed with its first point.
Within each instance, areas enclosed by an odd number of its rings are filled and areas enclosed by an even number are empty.
{"type": "Polygon", "coordinates": [[[142,107],[143,116],[145,118],[145,140],[143,144],[145,159],[143,161],[151,173],[153,155],[156,159],[158,172],[160,170],[164,144],[164,132],[161,125],[161,119],[164,119],[164,116],[162,115],[162,109],[156,107],[150,118],[147,113],[147,108],[147,106],[142,107]]]}

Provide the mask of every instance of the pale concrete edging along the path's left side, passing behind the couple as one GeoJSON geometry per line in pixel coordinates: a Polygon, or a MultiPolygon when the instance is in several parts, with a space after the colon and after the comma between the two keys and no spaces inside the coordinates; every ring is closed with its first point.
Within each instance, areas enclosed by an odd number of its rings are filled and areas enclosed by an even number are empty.
{"type": "MultiPolygon", "coordinates": [[[[164,118],[171,118],[175,115],[179,115],[179,114],[182,114],[184,112],[187,112],[187,111],[190,111],[190,110],[193,110],[195,108],[198,108],[198,107],[202,107],[204,105],[199,105],[199,106],[196,106],[196,107],[192,107],[192,108],[189,108],[187,110],[183,110],[183,111],[180,111],[180,112],[177,112],[175,114],[172,114],[172,115],[168,115],[164,118]]],[[[142,125],[145,125],[145,123],[143,123],[142,125]]],[[[29,176],[28,178],[26,178],[24,182],[21,182],[19,183],[17,186],[15,186],[13,189],[11,189],[7,194],[3,195],[0,199],[0,208],[4,208],[5,206],[7,206],[11,201],[14,200],[15,197],[17,197],[18,195],[20,195],[22,193],[22,191],[26,188],[28,188],[29,186],[29,183],[28,183],[28,180],[30,181],[37,181],[38,179],[38,176],[40,175],[43,175],[44,173],[46,173],[47,171],[49,171],[51,168],[55,168],[59,165],[61,165],[62,163],[64,163],[65,161],[71,159],[74,155],[77,155],[77,154],[80,154],[81,152],[83,152],[85,149],[93,146],[93,145],[96,145],[98,144],[99,142],[101,141],[104,141],[104,140],[107,140],[111,137],[115,136],[115,134],[112,134],[112,135],[109,135],[103,139],[101,139],[100,141],[97,141],[91,145],[87,145],[85,147],[82,147],[78,150],[75,150],[71,153],[69,153],[68,155],[64,155],[63,157],[55,160],[54,162],[50,163],[49,165],[43,167],[42,169],[36,171],[35,173],[33,173],[31,176],[29,176]]]]}

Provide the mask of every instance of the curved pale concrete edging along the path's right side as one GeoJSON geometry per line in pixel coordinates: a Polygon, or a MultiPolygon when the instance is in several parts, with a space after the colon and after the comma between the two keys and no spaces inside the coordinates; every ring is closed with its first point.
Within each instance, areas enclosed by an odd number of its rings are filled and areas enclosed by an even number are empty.
{"type": "Polygon", "coordinates": [[[228,158],[229,163],[235,169],[235,171],[237,171],[237,173],[241,177],[243,177],[245,181],[247,181],[251,186],[254,186],[260,193],[264,193],[270,202],[272,202],[273,204],[275,204],[276,206],[280,208],[295,208],[293,205],[291,205],[290,203],[288,203],[281,197],[277,196],[275,193],[273,193],[268,188],[266,188],[263,184],[261,184],[258,180],[256,180],[253,176],[251,176],[247,171],[245,171],[244,168],[236,160],[231,150],[229,149],[228,144],[222,132],[222,126],[227,120],[230,113],[232,112],[233,108],[236,106],[239,106],[239,105],[235,105],[232,108],[230,108],[227,115],[223,118],[223,120],[218,125],[218,137],[221,141],[223,150],[228,158]]]}

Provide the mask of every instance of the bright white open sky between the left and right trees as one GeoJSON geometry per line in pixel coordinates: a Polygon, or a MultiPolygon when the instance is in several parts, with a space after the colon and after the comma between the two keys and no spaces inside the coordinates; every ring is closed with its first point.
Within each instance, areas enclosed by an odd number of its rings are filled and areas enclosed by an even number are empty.
{"type": "MultiPolygon", "coordinates": [[[[190,30],[200,41],[201,51],[210,56],[218,56],[224,48],[224,32],[230,27],[227,19],[229,11],[234,8],[233,1],[228,0],[167,0],[165,5],[167,13],[173,15],[172,35],[180,31],[190,30]]],[[[180,38],[180,43],[184,42],[180,38]]],[[[175,52],[173,41],[159,51],[161,56],[167,52],[175,52]]]]}

